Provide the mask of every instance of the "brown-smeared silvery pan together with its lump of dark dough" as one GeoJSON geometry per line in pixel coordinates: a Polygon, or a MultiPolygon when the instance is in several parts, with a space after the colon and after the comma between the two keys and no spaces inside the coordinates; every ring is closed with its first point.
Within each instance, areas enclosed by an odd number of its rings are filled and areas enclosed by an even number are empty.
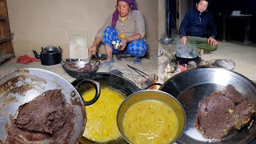
{"type": "Polygon", "coordinates": [[[3,75],[0,83],[0,143],[79,141],[85,102],[66,79],[28,68],[3,75]]]}

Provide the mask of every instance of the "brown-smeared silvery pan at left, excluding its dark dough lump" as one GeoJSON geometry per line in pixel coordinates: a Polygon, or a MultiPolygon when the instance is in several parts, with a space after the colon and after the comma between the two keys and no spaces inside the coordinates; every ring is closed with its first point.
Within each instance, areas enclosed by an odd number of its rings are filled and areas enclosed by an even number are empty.
{"type": "MultiPolygon", "coordinates": [[[[42,94],[46,90],[61,89],[65,95],[64,103],[74,110],[74,126],[63,131],[57,139],[50,135],[37,140],[19,138],[21,143],[76,143],[81,138],[86,125],[86,110],[78,91],[58,74],[47,70],[28,68],[14,70],[0,77],[0,143],[6,143],[6,126],[10,118],[18,114],[18,107],[42,94]]],[[[73,125],[73,124],[72,124],[73,125]]],[[[65,126],[65,125],[64,125],[65,126]]],[[[28,134],[30,138],[37,134],[28,134]]],[[[8,142],[7,142],[8,143],[8,142]]]]}

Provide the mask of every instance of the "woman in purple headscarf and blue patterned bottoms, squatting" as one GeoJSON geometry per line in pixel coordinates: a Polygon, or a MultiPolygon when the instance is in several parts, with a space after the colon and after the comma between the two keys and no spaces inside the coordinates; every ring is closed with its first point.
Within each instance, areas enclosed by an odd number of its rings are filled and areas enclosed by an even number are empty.
{"type": "Polygon", "coordinates": [[[145,37],[145,22],[142,13],[137,10],[135,0],[118,0],[117,9],[110,15],[102,28],[98,31],[90,54],[97,53],[100,42],[106,50],[106,62],[102,66],[110,66],[114,59],[112,54],[130,54],[134,63],[140,63],[140,58],[146,54],[148,45],[143,40],[145,37]],[[120,49],[112,47],[112,42],[122,42],[120,49]]]}

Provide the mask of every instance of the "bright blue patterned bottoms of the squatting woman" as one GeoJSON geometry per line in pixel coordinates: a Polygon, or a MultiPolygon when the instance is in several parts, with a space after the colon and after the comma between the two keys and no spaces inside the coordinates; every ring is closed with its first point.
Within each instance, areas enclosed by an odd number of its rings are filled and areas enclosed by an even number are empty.
{"type": "Polygon", "coordinates": [[[136,39],[134,41],[128,42],[125,50],[115,50],[112,47],[112,42],[117,40],[121,40],[118,38],[117,30],[115,30],[113,26],[106,27],[102,37],[102,43],[104,46],[110,46],[112,48],[113,54],[130,54],[135,58],[141,58],[146,54],[146,50],[149,47],[145,40],[136,39]]]}

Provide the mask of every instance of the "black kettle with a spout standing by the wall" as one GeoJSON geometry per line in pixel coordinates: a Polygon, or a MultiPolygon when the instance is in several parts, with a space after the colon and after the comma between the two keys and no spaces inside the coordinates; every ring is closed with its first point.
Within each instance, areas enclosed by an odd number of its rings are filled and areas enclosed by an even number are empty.
{"type": "Polygon", "coordinates": [[[62,61],[62,48],[58,46],[46,46],[42,47],[41,54],[33,50],[35,58],[40,58],[42,65],[50,66],[56,65],[62,61]]]}

